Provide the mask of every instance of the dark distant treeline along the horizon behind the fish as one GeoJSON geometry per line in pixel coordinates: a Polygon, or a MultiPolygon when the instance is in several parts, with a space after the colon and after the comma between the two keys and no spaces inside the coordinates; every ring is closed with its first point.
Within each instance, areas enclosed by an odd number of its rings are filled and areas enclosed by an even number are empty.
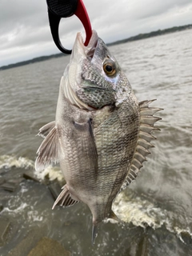
{"type": "MultiPolygon", "coordinates": [[[[114,45],[118,45],[120,43],[132,42],[132,41],[141,40],[141,39],[144,39],[144,38],[151,38],[151,37],[155,37],[155,36],[162,35],[162,34],[168,34],[168,33],[173,33],[173,32],[176,32],[176,31],[188,30],[188,29],[192,29],[192,24],[186,25],[186,26],[174,26],[174,27],[171,27],[170,29],[152,31],[152,32],[146,33],[146,34],[138,34],[138,35],[136,35],[134,37],[131,37],[131,38],[122,39],[122,40],[119,40],[117,42],[110,42],[110,43],[107,44],[107,46],[114,46],[114,45]]],[[[33,59],[28,60],[28,61],[18,62],[18,63],[10,64],[10,65],[7,65],[7,66],[1,66],[0,70],[7,70],[7,69],[10,69],[12,67],[24,66],[24,65],[34,63],[34,62],[42,62],[42,61],[46,61],[47,59],[50,59],[50,58],[59,58],[59,57],[65,56],[65,55],[66,54],[52,54],[52,55],[49,55],[49,56],[42,56],[42,57],[38,57],[38,58],[33,58],[33,59]]]]}

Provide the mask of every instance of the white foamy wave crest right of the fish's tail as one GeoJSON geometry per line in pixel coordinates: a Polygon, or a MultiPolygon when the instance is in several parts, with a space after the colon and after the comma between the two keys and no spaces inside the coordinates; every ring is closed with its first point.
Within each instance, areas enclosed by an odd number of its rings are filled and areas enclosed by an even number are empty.
{"type": "Polygon", "coordinates": [[[192,239],[190,228],[183,227],[182,223],[177,224],[173,212],[155,206],[154,202],[150,202],[142,196],[133,196],[131,190],[127,192],[128,190],[126,190],[126,194],[125,192],[118,194],[112,207],[123,222],[131,222],[134,226],[141,226],[144,229],[146,226],[150,226],[154,230],[166,226],[166,230],[176,234],[182,242],[184,242],[183,233],[188,234],[192,239]]]}

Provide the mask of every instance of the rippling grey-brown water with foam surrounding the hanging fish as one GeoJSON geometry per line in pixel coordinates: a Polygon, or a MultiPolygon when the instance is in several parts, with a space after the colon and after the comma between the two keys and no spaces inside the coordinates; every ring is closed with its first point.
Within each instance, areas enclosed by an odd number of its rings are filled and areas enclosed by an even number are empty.
{"type": "MultiPolygon", "coordinates": [[[[185,30],[111,46],[139,101],[157,98],[161,132],[142,172],[114,202],[127,222],[102,224],[91,246],[91,214],[84,204],[51,210],[45,185],[22,182],[2,198],[2,216],[15,223],[0,254],[6,255],[29,230],[62,242],[71,255],[192,254],[192,34],[185,30]]],[[[0,72],[0,170],[16,178],[33,169],[42,139],[38,129],[54,120],[58,85],[69,57],[55,58],[0,72]]],[[[43,178],[62,174],[58,166],[43,178]]],[[[0,175],[2,175],[0,173],[0,175]]]]}

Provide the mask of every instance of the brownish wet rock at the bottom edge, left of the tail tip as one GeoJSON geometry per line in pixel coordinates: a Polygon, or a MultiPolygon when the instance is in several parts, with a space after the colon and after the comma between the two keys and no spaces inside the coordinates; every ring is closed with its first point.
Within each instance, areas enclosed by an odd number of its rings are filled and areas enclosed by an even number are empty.
{"type": "Polygon", "coordinates": [[[27,256],[70,256],[70,252],[67,251],[59,242],[50,238],[42,238],[37,246],[30,251],[27,256]]]}

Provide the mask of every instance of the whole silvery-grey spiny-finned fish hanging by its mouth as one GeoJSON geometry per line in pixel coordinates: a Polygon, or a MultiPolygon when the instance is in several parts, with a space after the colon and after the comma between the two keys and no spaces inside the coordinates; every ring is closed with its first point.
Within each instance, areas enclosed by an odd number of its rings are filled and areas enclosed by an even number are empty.
{"type": "Polygon", "coordinates": [[[77,34],[61,78],[55,121],[42,126],[35,169],[60,163],[66,185],[54,206],[83,202],[93,216],[92,243],[98,226],[114,214],[116,196],[138,176],[159,130],[150,107],[138,102],[126,74],[93,30],[88,46],[77,34]]]}

